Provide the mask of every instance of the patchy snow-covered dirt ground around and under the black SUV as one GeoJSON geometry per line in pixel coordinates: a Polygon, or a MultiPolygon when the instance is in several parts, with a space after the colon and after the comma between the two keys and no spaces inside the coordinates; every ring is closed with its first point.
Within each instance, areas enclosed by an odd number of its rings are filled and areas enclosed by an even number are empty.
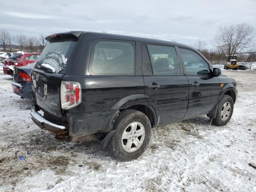
{"type": "Polygon", "coordinates": [[[154,128],[148,149],[131,162],[98,142],[58,142],[40,130],[31,102],[0,74],[0,191],[256,191],[248,165],[256,165],[256,71],[223,73],[239,92],[228,125],[209,127],[203,116],[154,128]]]}

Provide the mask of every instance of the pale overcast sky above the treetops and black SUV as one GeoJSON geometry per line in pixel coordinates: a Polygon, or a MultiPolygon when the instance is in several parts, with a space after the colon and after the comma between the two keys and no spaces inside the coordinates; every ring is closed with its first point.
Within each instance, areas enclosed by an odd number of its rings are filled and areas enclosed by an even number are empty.
{"type": "Polygon", "coordinates": [[[12,35],[105,31],[212,47],[218,26],[256,28],[256,0],[4,0],[0,7],[0,30],[12,35]]]}

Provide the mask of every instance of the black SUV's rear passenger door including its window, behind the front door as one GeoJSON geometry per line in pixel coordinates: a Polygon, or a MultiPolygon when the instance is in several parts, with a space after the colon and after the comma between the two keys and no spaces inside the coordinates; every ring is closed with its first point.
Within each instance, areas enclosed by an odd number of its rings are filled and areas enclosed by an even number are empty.
{"type": "Polygon", "coordinates": [[[142,60],[146,98],[158,114],[158,123],[181,120],[188,107],[189,90],[176,48],[142,44],[142,60]]]}

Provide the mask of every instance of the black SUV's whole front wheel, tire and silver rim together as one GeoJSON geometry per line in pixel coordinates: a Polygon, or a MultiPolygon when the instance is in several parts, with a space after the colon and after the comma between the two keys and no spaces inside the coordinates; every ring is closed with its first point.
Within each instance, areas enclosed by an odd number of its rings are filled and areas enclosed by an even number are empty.
{"type": "Polygon", "coordinates": [[[212,120],[212,124],[217,126],[224,126],[229,121],[233,114],[234,102],[232,97],[224,95],[218,106],[216,117],[212,120]]]}

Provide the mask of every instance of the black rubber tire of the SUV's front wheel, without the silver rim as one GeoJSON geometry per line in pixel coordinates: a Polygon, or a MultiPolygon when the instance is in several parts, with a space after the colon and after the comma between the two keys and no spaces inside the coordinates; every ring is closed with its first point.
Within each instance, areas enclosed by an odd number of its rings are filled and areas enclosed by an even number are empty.
{"type": "Polygon", "coordinates": [[[216,126],[226,125],[230,121],[230,118],[232,117],[233,110],[234,110],[234,102],[233,102],[232,97],[230,97],[229,95],[224,95],[222,97],[222,100],[220,101],[219,106],[218,106],[216,117],[212,120],[212,124],[214,124],[216,126]],[[226,102],[230,103],[230,115],[226,120],[222,120],[221,111],[226,102]]]}

